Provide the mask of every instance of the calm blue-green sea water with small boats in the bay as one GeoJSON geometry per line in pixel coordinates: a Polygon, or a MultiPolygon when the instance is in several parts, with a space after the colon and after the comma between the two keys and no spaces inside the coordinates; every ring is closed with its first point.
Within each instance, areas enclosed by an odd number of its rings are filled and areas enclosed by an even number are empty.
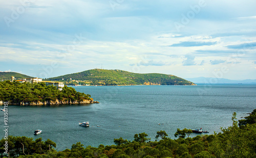
{"type": "MultiPolygon", "coordinates": [[[[57,144],[57,150],[71,148],[77,142],[98,147],[114,144],[114,138],[132,141],[134,134],[141,132],[154,141],[160,130],[175,139],[177,128],[202,127],[213,134],[232,124],[232,112],[236,111],[241,119],[256,108],[256,84],[74,88],[90,94],[100,104],[9,105],[8,134],[50,139],[57,144]],[[90,127],[78,126],[79,121],[90,121],[90,127]],[[42,134],[34,136],[35,129],[41,129],[42,134]]],[[[0,119],[0,127],[4,129],[3,114],[0,119]]],[[[0,134],[4,137],[3,130],[0,134]]]]}

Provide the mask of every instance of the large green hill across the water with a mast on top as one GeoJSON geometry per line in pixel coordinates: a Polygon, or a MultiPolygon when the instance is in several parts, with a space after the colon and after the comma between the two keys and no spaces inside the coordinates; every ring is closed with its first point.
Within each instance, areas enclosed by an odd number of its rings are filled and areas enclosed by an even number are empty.
{"type": "Polygon", "coordinates": [[[142,85],[145,82],[153,85],[194,85],[174,75],[165,74],[137,74],[122,70],[93,69],[80,73],[68,74],[53,78],[51,81],[65,81],[66,84],[90,85],[142,85]],[[75,81],[74,81],[75,80],[75,81]],[[78,82],[77,82],[78,81],[78,82]]]}

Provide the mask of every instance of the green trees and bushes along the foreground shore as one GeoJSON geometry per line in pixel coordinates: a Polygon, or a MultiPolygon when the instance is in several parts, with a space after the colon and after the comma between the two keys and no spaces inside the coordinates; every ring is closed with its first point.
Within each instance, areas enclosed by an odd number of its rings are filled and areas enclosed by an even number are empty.
{"type": "MultiPolygon", "coordinates": [[[[198,135],[190,138],[190,129],[177,129],[178,139],[168,138],[165,131],[156,132],[156,140],[151,140],[145,132],[135,134],[133,141],[123,138],[114,139],[115,145],[98,147],[87,146],[80,142],[71,149],[56,151],[56,143],[42,138],[33,140],[27,137],[8,136],[8,154],[10,157],[87,157],[87,158],[214,158],[214,157],[256,157],[256,109],[242,120],[237,121],[233,112],[232,126],[221,128],[222,132],[210,135],[198,135]]],[[[4,150],[6,140],[0,141],[0,152],[4,150]]]]}

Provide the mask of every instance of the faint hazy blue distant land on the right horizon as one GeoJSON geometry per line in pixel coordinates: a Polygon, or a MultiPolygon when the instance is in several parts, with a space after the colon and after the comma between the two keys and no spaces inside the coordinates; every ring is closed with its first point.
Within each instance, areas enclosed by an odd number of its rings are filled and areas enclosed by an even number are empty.
{"type": "Polygon", "coordinates": [[[225,78],[213,78],[213,77],[197,77],[197,78],[186,78],[194,83],[256,83],[255,80],[247,79],[247,80],[229,80],[225,78]]]}

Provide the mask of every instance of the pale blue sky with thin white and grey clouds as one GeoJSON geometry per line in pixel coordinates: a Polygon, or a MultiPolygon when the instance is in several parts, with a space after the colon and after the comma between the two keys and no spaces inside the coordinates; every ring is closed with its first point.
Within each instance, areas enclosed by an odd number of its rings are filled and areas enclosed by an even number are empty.
{"type": "Polygon", "coordinates": [[[256,1],[0,0],[0,71],[256,79],[256,1]]]}

